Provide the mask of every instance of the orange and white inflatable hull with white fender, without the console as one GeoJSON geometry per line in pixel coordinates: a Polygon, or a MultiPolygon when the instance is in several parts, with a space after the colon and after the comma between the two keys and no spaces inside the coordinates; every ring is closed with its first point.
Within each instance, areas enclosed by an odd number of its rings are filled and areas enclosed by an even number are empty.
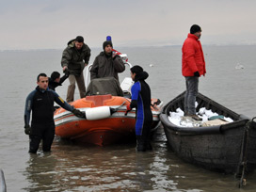
{"type": "MultiPolygon", "coordinates": [[[[136,110],[127,115],[126,105],[131,100],[120,96],[95,95],[76,100],[71,104],[85,112],[86,118],[77,118],[71,112],[58,108],[55,112],[56,136],[99,146],[123,139],[135,138],[136,110]]],[[[162,103],[152,99],[152,129],[159,124],[162,103]]]]}

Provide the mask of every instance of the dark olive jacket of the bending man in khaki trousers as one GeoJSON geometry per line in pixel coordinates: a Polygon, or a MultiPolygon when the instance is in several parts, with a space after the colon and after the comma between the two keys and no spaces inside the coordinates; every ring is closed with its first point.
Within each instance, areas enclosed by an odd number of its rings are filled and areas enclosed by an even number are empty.
{"type": "Polygon", "coordinates": [[[87,44],[83,44],[80,50],[77,50],[74,45],[74,40],[68,42],[67,48],[62,53],[61,66],[67,66],[70,74],[79,76],[85,64],[88,64],[90,57],[90,49],[87,44]]]}

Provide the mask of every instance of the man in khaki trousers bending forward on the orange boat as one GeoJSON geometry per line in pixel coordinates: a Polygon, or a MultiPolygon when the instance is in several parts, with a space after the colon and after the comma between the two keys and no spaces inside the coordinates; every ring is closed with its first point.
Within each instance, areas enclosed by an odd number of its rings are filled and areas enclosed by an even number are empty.
{"type": "Polygon", "coordinates": [[[77,36],[76,39],[68,42],[67,48],[63,51],[61,66],[63,72],[70,72],[67,99],[68,103],[73,101],[75,82],[79,88],[80,97],[86,97],[86,86],[84,79],[84,68],[88,65],[90,57],[90,49],[82,36],[77,36]]]}

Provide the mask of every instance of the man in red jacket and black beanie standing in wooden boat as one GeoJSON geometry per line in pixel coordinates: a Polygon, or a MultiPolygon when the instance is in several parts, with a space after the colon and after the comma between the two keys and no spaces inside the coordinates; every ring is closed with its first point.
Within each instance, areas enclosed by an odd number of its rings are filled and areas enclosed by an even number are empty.
{"type": "Polygon", "coordinates": [[[201,120],[196,114],[195,103],[199,92],[199,77],[206,73],[200,35],[200,26],[193,24],[183,45],[183,75],[186,86],[184,116],[191,117],[194,120],[201,120]]]}

